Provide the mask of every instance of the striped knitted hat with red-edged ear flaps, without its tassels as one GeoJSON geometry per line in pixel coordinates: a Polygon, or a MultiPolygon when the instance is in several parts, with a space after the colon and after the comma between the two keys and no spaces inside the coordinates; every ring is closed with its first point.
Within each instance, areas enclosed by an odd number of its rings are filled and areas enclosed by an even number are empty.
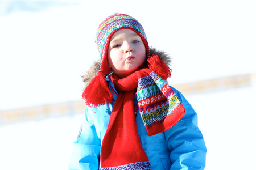
{"type": "Polygon", "coordinates": [[[96,44],[101,57],[101,72],[108,74],[108,47],[112,35],[119,29],[131,29],[136,32],[144,42],[146,48],[146,56],[150,55],[147,37],[142,25],[133,17],[126,14],[113,14],[108,16],[98,27],[96,35],[96,44]]]}

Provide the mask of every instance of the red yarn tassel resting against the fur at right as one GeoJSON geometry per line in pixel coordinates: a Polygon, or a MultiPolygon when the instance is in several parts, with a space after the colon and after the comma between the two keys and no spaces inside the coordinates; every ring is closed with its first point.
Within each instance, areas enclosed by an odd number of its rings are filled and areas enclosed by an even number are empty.
{"type": "Polygon", "coordinates": [[[167,80],[171,77],[171,69],[166,63],[159,59],[158,55],[153,55],[147,59],[148,68],[155,71],[162,79],[167,80]]]}

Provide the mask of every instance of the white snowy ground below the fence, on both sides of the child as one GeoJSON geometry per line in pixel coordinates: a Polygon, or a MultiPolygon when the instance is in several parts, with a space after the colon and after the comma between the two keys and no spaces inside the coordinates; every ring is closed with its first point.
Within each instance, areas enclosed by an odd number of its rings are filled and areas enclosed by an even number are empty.
{"type": "MultiPolygon", "coordinates": [[[[188,95],[207,145],[207,170],[254,169],[255,88],[188,95]]],[[[83,114],[0,126],[0,169],[67,169],[83,114]]]]}

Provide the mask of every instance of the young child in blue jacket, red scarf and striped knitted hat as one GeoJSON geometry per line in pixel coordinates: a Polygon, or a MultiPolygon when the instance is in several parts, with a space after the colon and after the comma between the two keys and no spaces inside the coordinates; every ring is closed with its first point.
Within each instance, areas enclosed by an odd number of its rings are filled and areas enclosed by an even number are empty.
{"type": "Polygon", "coordinates": [[[100,24],[96,44],[101,60],[84,76],[88,107],[69,169],[204,169],[197,114],[168,86],[168,55],[125,14],[100,24]]]}

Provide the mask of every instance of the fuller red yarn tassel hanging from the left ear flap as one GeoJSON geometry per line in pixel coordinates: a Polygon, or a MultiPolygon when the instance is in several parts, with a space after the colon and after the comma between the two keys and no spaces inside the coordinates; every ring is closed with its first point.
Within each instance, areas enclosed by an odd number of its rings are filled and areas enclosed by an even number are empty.
{"type": "Polygon", "coordinates": [[[85,100],[86,105],[89,107],[92,107],[92,104],[99,106],[105,103],[112,103],[112,93],[108,87],[105,76],[98,75],[93,78],[82,93],[82,99],[85,100]]]}

